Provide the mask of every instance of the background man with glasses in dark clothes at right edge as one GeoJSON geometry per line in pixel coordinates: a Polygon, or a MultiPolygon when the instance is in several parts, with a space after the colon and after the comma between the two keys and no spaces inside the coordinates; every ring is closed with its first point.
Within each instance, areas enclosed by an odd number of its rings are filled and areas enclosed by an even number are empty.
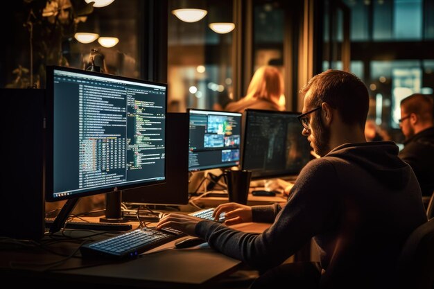
{"type": "Polygon", "coordinates": [[[406,140],[399,157],[415,171],[422,195],[434,191],[433,96],[412,94],[401,100],[399,127],[406,140]]]}

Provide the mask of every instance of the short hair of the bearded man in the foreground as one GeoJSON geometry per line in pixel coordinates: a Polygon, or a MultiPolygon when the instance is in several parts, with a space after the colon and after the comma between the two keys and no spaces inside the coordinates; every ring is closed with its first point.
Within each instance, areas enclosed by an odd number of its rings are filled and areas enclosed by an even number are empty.
{"type": "Polygon", "coordinates": [[[311,88],[314,106],[328,103],[338,110],[344,123],[358,124],[365,128],[370,96],[360,78],[353,73],[329,69],[313,76],[300,93],[306,94],[311,88]]]}

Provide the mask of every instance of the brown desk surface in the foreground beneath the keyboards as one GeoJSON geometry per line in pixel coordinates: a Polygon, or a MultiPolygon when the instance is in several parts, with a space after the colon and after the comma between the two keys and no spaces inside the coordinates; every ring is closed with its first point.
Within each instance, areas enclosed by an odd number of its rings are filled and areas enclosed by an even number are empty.
{"type": "MultiPolygon", "coordinates": [[[[263,231],[266,224],[240,224],[234,226],[242,231],[263,231]]],[[[69,237],[88,236],[90,231],[65,230],[69,237]]],[[[106,235],[107,236],[107,235],[106,235]]],[[[104,236],[96,236],[105,238],[104,236]]],[[[76,251],[80,243],[58,241],[49,245],[51,239],[42,243],[50,251],[67,256],[76,251]]],[[[98,283],[104,286],[141,288],[207,288],[218,279],[238,270],[241,261],[216,252],[207,244],[186,249],[173,249],[175,241],[152,249],[137,259],[107,261],[107,259],[81,259],[74,257],[64,261],[64,256],[50,254],[42,247],[16,247],[0,251],[0,276],[17,283],[28,278],[46,281],[98,283]],[[53,267],[55,262],[58,265],[53,267]]],[[[78,254],[77,254],[78,255],[78,254]]],[[[24,281],[25,282],[25,281],[24,281]]],[[[82,284],[82,285],[83,285],[82,284]]]]}

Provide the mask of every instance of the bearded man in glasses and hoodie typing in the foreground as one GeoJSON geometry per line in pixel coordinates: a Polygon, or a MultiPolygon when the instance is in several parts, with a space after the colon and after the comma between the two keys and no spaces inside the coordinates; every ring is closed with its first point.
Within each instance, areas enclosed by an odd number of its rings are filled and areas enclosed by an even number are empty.
{"type": "Polygon", "coordinates": [[[390,141],[366,142],[367,88],[328,70],[302,89],[302,134],[321,156],[302,169],[284,206],[221,204],[225,224],[170,214],[157,227],[199,236],[263,273],[251,288],[395,288],[401,247],[426,222],[413,170],[390,141]],[[269,222],[261,234],[226,225],[269,222]],[[284,263],[311,238],[320,263],[284,263]]]}

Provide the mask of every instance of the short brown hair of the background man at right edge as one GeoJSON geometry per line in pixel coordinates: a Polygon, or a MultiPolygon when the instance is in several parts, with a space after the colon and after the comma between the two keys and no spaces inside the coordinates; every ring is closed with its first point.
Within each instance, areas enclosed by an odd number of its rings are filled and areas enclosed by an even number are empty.
{"type": "Polygon", "coordinates": [[[411,94],[401,100],[401,107],[406,114],[417,114],[423,122],[433,121],[434,100],[427,94],[411,94]]]}

